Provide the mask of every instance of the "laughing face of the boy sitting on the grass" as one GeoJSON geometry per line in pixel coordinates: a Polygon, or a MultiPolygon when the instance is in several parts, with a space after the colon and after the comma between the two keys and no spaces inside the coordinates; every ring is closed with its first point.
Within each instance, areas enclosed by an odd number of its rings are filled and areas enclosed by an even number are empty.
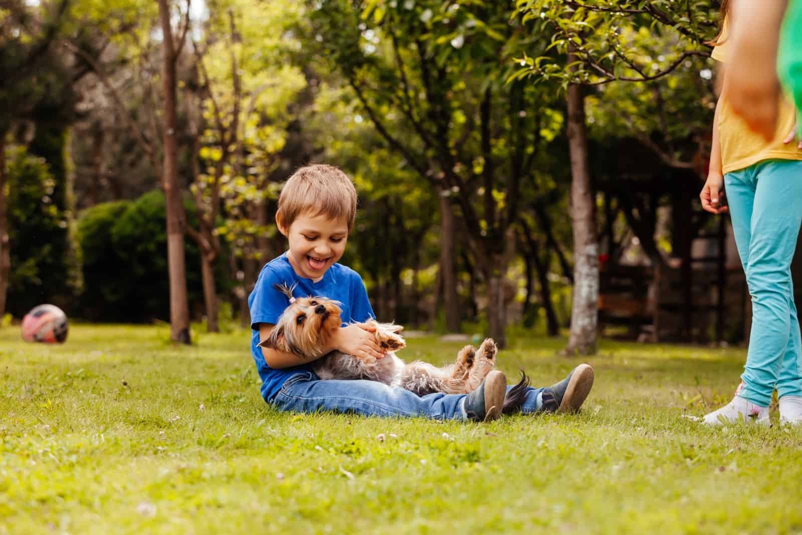
{"type": "Polygon", "coordinates": [[[287,258],[298,276],[318,282],[346,250],[348,223],[345,219],[304,212],[289,228],[278,220],[276,223],[278,230],[290,241],[287,258]]]}

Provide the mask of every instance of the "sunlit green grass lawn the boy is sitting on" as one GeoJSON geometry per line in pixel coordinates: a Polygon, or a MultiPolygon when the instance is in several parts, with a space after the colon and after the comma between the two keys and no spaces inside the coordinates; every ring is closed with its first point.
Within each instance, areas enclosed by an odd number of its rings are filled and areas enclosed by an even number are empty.
{"type": "MultiPolygon", "coordinates": [[[[0,330],[0,533],[802,533],[802,430],[680,417],[730,398],[743,349],[607,342],[581,414],[465,424],[283,414],[248,333],[167,338],[0,330]]],[[[500,368],[550,384],[564,343],[514,339],[500,368]]]]}

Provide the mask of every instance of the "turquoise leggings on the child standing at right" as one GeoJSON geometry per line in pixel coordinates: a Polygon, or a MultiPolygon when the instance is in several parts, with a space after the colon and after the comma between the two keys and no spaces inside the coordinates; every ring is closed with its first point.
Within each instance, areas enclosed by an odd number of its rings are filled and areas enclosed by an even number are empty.
{"type": "Polygon", "coordinates": [[[773,159],[724,176],[752,324],[739,396],[768,407],[802,396],[802,337],[791,260],[802,222],[802,161],[773,159]]]}

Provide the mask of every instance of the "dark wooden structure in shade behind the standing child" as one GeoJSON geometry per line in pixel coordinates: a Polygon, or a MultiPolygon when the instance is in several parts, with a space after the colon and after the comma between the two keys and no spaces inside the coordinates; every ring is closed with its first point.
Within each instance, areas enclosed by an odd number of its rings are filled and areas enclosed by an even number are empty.
{"type": "MultiPolygon", "coordinates": [[[[625,167],[626,168],[626,167],[625,167]]],[[[707,342],[739,340],[746,322],[747,289],[735,253],[729,218],[699,207],[702,184],[692,171],[673,171],[665,179],[626,172],[599,180],[605,198],[606,244],[610,260],[601,262],[599,325],[619,326],[617,334],[639,340],[707,342]],[[614,204],[614,209],[610,206],[614,204]],[[658,247],[658,210],[665,209],[670,255],[658,247]],[[641,258],[620,259],[614,222],[626,217],[638,238],[641,258]],[[621,327],[626,327],[622,332],[621,327]]],[[[666,219],[664,215],[662,219],[666,219]]]]}

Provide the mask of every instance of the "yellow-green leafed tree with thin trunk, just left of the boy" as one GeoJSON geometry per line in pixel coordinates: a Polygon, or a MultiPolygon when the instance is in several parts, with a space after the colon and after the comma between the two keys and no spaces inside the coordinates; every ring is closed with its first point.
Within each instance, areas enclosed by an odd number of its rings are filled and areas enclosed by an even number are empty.
{"type": "Polygon", "coordinates": [[[222,232],[233,242],[234,229],[248,228],[257,236],[266,231],[266,181],[283,147],[287,104],[304,86],[298,68],[281,65],[280,54],[270,50],[277,46],[254,31],[255,26],[265,32],[273,25],[282,33],[281,27],[290,21],[280,18],[281,6],[230,2],[227,10],[224,7],[213,5],[205,42],[195,46],[198,87],[187,85],[193,146],[190,191],[199,222],[197,229],[189,226],[187,231],[203,251],[209,332],[218,330],[213,261],[221,251],[219,235],[222,232]],[[246,190],[256,203],[249,202],[246,190]],[[237,219],[234,210],[226,211],[229,223],[221,224],[218,215],[224,200],[229,201],[227,208],[233,208],[233,202],[253,204],[244,212],[251,224],[229,224],[237,219]]]}

